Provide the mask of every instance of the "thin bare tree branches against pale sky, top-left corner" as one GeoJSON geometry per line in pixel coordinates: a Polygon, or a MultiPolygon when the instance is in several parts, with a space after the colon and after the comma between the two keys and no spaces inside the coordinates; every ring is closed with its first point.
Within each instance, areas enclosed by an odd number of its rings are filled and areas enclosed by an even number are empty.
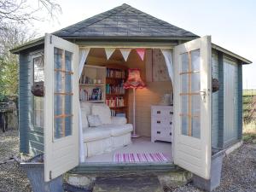
{"type": "Polygon", "coordinates": [[[0,25],[26,23],[32,20],[53,19],[61,13],[61,6],[55,0],[0,0],[0,25]]]}

